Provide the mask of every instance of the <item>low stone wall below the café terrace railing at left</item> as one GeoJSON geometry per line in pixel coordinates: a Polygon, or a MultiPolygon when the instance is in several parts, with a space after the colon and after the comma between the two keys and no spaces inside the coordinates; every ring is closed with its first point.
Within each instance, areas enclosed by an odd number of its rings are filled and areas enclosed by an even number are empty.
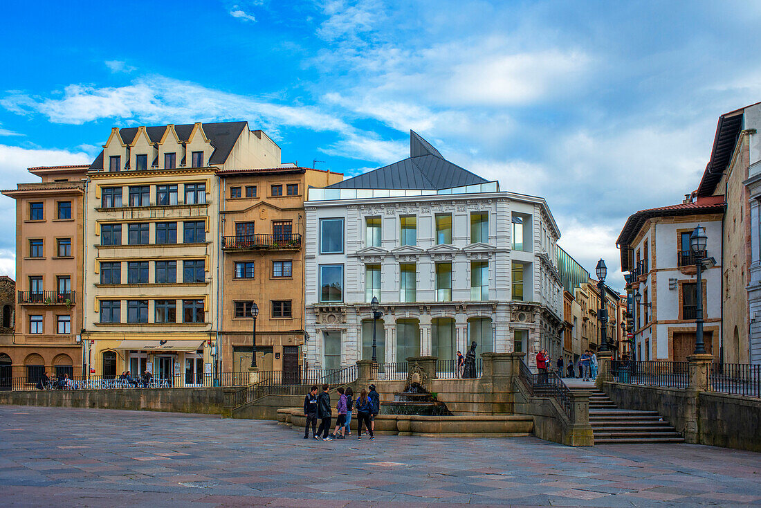
{"type": "Polygon", "coordinates": [[[0,404],[222,414],[222,388],[0,391],[0,404]]]}

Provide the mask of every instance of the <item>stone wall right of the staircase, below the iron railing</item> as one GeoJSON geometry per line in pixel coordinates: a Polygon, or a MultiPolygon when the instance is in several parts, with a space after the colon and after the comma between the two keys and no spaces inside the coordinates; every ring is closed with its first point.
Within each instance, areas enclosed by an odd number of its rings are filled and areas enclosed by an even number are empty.
{"type": "Polygon", "coordinates": [[[658,411],[687,443],[761,452],[759,398],[615,382],[603,390],[619,407],[658,411]]]}

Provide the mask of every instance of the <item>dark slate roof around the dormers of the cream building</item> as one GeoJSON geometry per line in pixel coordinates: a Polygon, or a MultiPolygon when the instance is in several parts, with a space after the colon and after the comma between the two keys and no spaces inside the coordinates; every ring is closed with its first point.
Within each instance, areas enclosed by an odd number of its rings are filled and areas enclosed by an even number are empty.
{"type": "MultiPolygon", "coordinates": [[[[247,122],[218,122],[218,123],[202,123],[203,132],[214,147],[214,152],[209,158],[209,164],[224,164],[224,161],[228,160],[228,155],[233,149],[235,142],[243,129],[247,127],[247,122]]],[[[161,136],[164,136],[167,126],[151,126],[146,127],[145,130],[148,133],[148,138],[151,142],[158,143],[161,141],[161,136]]],[[[177,133],[177,137],[180,141],[187,141],[190,137],[190,133],[193,132],[193,123],[174,126],[174,132],[177,133]]],[[[119,129],[119,136],[122,136],[122,141],[127,145],[135,140],[135,135],[138,133],[137,127],[124,127],[119,129]]],[[[103,152],[95,158],[90,165],[90,169],[97,170],[103,169],[103,152]]]]}

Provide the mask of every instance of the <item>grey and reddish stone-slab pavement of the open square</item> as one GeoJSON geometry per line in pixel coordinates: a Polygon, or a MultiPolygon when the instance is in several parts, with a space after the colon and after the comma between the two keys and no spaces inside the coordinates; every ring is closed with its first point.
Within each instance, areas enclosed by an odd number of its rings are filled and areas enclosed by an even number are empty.
{"type": "Polygon", "coordinates": [[[0,406],[2,506],[738,506],[761,454],[511,439],[301,439],[213,416],[0,406]]]}

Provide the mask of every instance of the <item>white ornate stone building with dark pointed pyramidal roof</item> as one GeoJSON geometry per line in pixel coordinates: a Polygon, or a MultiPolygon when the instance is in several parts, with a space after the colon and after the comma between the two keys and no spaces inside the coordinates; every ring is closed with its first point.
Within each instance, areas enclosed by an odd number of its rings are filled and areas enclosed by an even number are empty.
{"type": "MultiPolygon", "coordinates": [[[[499,190],[410,132],[410,157],[306,203],[306,360],[562,350],[560,232],[543,198],[499,190]]],[[[529,354],[530,362],[534,355],[529,354]]]]}

